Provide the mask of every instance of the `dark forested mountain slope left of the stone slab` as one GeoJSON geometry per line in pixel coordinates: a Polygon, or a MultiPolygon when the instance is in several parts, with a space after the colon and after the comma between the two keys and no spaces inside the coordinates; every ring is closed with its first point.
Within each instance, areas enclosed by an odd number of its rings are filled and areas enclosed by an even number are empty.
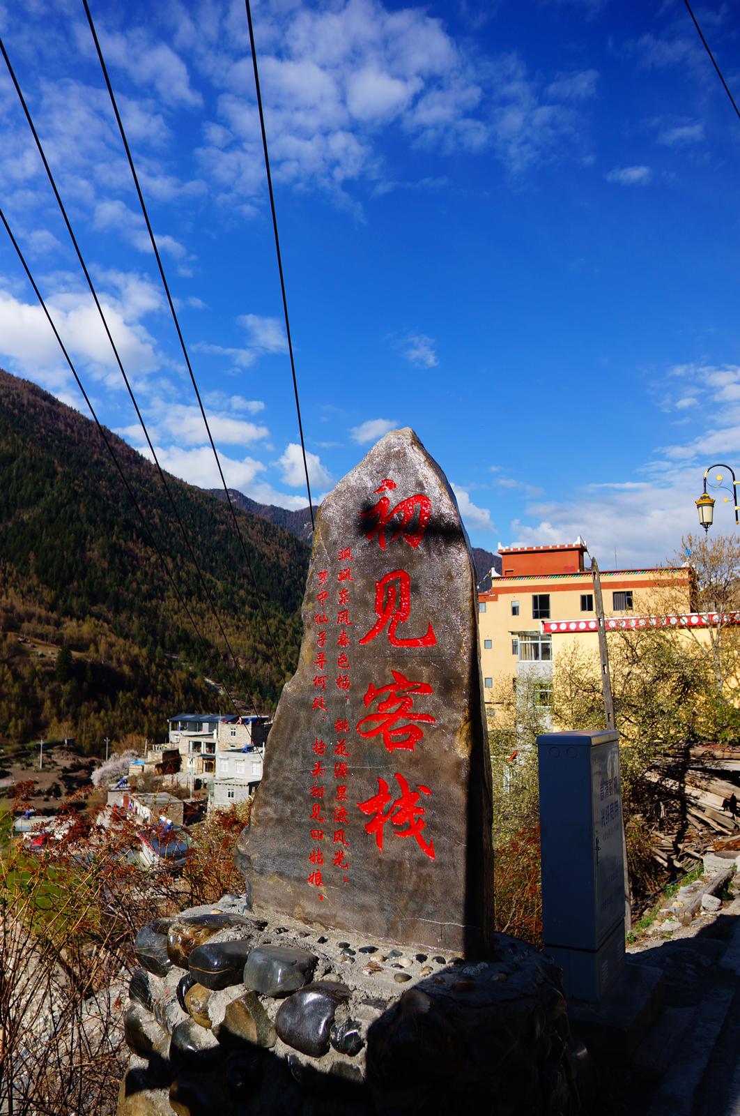
{"type": "Polygon", "coordinates": [[[162,739],[182,709],[233,710],[206,680],[270,712],[294,670],[308,546],[237,512],[275,654],[228,508],[168,477],[244,686],[154,465],[108,436],[207,650],[95,424],[0,369],[0,742],[162,739]]]}

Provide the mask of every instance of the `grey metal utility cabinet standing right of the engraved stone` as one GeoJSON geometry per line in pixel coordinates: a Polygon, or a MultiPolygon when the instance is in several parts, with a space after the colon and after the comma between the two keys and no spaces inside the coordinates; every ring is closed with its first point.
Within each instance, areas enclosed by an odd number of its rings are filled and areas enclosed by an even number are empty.
{"type": "Polygon", "coordinates": [[[544,947],[567,995],[597,1002],[624,969],[624,853],[616,732],[537,738],[544,947]]]}

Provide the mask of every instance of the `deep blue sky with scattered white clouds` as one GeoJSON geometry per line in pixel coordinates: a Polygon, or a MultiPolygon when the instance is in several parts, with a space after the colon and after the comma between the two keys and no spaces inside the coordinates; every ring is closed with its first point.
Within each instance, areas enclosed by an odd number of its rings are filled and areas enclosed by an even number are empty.
{"type": "MultiPolygon", "coordinates": [[[[240,0],[91,0],[227,482],[305,503],[240,0]]],[[[740,95],[740,18],[698,18],[740,95]]],[[[413,426],[475,543],[603,567],[740,470],[740,121],[682,2],[255,2],[317,494],[413,426]]],[[[78,0],[0,31],[163,464],[215,487],[78,0]]],[[[103,420],[143,437],[4,67],[0,204],[103,420]]],[[[80,410],[11,247],[0,364],[80,410]]],[[[718,526],[731,530],[729,507],[718,526]]]]}

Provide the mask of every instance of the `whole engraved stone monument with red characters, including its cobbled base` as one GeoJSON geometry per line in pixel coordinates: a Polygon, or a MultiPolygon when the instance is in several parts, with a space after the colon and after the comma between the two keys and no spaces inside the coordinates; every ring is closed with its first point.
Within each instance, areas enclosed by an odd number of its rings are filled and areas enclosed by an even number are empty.
{"type": "Polygon", "coordinates": [[[575,1110],[559,970],[493,931],[475,580],[410,430],[320,509],[236,863],[139,931],[118,1116],[575,1110]]]}

